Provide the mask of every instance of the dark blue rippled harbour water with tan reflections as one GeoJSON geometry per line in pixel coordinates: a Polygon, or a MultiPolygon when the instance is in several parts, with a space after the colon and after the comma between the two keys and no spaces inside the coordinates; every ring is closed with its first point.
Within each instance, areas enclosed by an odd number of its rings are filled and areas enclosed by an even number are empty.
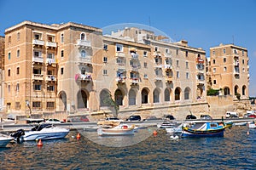
{"type": "Polygon", "coordinates": [[[149,135],[153,130],[112,138],[81,132],[79,140],[75,138],[78,132],[73,131],[66,139],[43,141],[42,148],[36,142],[9,144],[0,149],[0,169],[256,168],[256,129],[247,135],[247,127],[232,127],[226,129],[224,138],[178,140],[172,140],[164,130],[157,136],[149,135]]]}

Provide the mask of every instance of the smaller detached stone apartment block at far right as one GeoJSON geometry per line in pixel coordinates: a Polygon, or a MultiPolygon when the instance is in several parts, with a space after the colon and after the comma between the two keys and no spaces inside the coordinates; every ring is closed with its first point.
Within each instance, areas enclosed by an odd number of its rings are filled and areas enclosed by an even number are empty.
{"type": "Polygon", "coordinates": [[[233,99],[248,99],[249,65],[247,48],[234,44],[220,44],[210,48],[208,75],[213,89],[233,99]]]}

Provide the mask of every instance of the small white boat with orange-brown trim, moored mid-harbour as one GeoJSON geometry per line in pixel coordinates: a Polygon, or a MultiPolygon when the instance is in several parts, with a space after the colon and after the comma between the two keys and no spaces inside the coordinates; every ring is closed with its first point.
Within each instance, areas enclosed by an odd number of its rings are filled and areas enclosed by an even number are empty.
{"type": "Polygon", "coordinates": [[[113,123],[103,126],[97,129],[97,133],[100,136],[115,136],[115,135],[133,135],[135,133],[135,126],[123,123],[113,123]]]}

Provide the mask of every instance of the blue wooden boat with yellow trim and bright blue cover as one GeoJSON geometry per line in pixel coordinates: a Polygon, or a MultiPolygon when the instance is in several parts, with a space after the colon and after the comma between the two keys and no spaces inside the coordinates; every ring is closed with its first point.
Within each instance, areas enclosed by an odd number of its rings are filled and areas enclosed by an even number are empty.
{"type": "Polygon", "coordinates": [[[182,127],[182,137],[223,137],[224,122],[193,122],[182,127]]]}

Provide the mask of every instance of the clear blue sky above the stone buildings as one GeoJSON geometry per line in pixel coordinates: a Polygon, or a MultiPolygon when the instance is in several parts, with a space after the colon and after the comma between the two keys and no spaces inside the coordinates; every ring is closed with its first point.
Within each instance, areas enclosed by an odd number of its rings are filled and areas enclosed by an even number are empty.
{"type": "Polygon", "coordinates": [[[0,35],[24,20],[43,24],[69,21],[104,28],[122,23],[152,26],[189,46],[234,43],[247,48],[249,96],[256,96],[256,0],[0,0],[0,35]]]}

